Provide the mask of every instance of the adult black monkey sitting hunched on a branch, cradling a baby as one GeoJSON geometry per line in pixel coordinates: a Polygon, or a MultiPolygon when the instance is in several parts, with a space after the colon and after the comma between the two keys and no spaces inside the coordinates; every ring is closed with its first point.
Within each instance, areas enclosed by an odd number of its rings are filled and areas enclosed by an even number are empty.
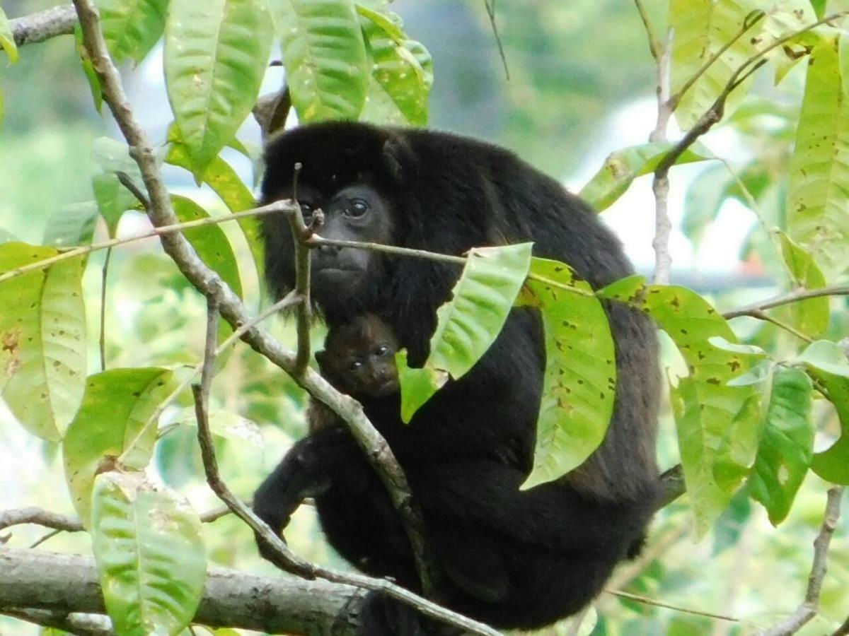
{"type": "MultiPolygon", "coordinates": [[[[304,126],[266,150],[263,202],[292,196],[321,207],[324,237],[391,243],[445,254],[534,242],[593,287],[632,273],[593,210],[513,153],[433,131],[354,123],[304,126]],[[362,210],[366,212],[360,214],[362,210]]],[[[263,220],[267,281],[294,285],[290,230],[263,220]]],[[[313,298],[329,326],[373,312],[409,351],[428,354],[436,308],[458,269],[350,248],[313,254],[313,298]],[[344,284],[339,284],[340,282],[344,284]]],[[[365,399],[368,417],[407,472],[427,538],[444,570],[437,600],[499,628],[536,628],[599,593],[613,566],[637,549],[657,497],[655,333],[638,312],[605,308],[616,339],[616,406],[604,443],[555,483],[520,491],[529,473],[543,385],[541,321],[513,310],[492,348],[449,382],[409,426],[397,397],[365,399]]],[[[384,488],[344,429],[295,444],[255,496],[257,514],[282,530],[316,497],[329,542],[364,572],[417,588],[410,550],[384,488]]],[[[362,614],[368,636],[441,633],[377,594],[362,614]]]]}

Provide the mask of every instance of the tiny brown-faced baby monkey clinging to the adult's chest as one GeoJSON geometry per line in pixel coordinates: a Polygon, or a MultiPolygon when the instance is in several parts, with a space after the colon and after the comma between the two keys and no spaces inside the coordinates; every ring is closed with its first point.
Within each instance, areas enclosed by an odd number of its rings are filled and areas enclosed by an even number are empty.
{"type": "MultiPolygon", "coordinates": [[[[374,314],[363,314],[331,329],[316,360],[324,379],[338,391],[356,399],[391,398],[399,391],[397,351],[389,326],[374,314]]],[[[314,399],[306,408],[306,421],[309,432],[340,424],[332,410],[314,399]]]]}

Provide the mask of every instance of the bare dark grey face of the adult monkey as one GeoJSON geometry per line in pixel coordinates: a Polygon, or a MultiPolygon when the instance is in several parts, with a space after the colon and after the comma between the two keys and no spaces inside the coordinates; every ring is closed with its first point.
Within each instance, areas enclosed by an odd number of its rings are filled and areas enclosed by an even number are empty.
{"type": "MultiPolygon", "coordinates": [[[[320,237],[357,243],[393,242],[395,222],[391,202],[376,188],[353,184],[325,195],[298,187],[304,221],[310,225],[321,209],[323,222],[315,227],[320,237]]],[[[322,245],[312,249],[312,295],[323,308],[332,308],[356,297],[368,285],[380,284],[385,258],[362,248],[322,245]]]]}

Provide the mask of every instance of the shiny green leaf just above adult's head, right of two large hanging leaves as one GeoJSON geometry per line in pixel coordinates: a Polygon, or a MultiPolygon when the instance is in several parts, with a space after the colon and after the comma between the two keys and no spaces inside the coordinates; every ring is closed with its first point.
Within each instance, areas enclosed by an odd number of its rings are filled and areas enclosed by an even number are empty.
{"type": "Polygon", "coordinates": [[[363,33],[371,58],[372,81],[363,120],[424,126],[433,86],[433,59],[419,42],[409,40],[401,19],[357,4],[365,18],[363,33]],[[380,94],[382,93],[382,94],[380,94]],[[380,104],[387,108],[377,108],[380,104]]]}

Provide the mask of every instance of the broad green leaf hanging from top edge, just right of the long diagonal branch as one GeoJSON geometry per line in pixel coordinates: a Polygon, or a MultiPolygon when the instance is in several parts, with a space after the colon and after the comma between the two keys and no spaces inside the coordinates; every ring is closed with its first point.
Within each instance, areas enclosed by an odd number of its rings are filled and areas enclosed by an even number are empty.
{"type": "Polygon", "coordinates": [[[171,0],[165,35],[168,99],[198,176],[256,103],[272,25],[264,0],[171,0]]]}

